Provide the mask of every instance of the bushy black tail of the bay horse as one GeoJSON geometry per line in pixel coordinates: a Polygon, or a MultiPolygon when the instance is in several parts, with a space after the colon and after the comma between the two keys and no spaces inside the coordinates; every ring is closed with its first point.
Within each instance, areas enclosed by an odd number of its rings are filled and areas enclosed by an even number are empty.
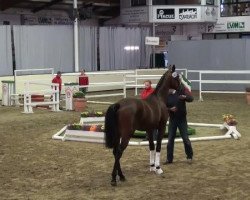
{"type": "Polygon", "coordinates": [[[109,106],[106,115],[105,115],[105,145],[107,148],[113,148],[115,145],[115,141],[118,135],[118,128],[117,128],[117,110],[120,108],[118,103],[112,104],[109,106]]]}

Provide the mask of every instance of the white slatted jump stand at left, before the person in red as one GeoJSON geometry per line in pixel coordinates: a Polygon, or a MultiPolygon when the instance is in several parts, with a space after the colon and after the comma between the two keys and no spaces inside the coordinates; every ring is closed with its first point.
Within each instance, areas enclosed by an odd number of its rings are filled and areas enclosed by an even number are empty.
{"type": "Polygon", "coordinates": [[[51,106],[52,111],[59,111],[59,95],[59,85],[57,83],[25,82],[23,113],[33,113],[33,107],[37,105],[48,105],[51,106]],[[46,86],[46,89],[31,90],[31,85],[46,86]],[[32,102],[32,95],[49,95],[50,98],[48,98],[48,101],[32,102]]]}

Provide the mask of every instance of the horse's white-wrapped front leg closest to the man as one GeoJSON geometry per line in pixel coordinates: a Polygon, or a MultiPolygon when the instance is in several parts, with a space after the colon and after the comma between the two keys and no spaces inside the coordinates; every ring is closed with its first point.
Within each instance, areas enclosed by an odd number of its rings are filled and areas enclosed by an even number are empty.
{"type": "Polygon", "coordinates": [[[155,153],[155,167],[156,167],[156,174],[162,174],[163,170],[160,167],[160,159],[161,159],[161,142],[166,131],[166,123],[162,123],[158,129],[157,135],[157,144],[156,144],[156,153],[155,153]]]}

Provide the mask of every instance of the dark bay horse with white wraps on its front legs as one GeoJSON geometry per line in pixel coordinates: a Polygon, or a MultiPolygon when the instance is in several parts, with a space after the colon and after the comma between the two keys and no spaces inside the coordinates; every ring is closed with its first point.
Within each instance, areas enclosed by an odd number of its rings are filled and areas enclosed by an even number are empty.
{"type": "Polygon", "coordinates": [[[113,148],[115,163],[111,185],[116,186],[116,176],[125,181],[120,166],[120,158],[128,146],[135,130],[146,131],[149,138],[150,171],[163,173],[160,168],[161,141],[166,129],[168,111],[166,99],[168,90],[177,89],[180,85],[175,67],[170,67],[159,80],[154,92],[145,100],[125,98],[109,106],[105,115],[105,144],[113,148]],[[157,145],[153,142],[153,131],[158,130],[157,145]]]}

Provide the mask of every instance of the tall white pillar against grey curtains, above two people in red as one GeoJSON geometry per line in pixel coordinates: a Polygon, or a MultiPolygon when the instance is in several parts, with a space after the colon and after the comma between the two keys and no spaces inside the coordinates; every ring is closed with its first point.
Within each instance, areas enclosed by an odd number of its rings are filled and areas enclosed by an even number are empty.
{"type": "MultiPolygon", "coordinates": [[[[77,0],[74,0],[74,10],[77,10],[77,0]]],[[[77,15],[74,20],[74,61],[75,72],[79,71],[79,45],[78,45],[78,19],[77,15]]]]}

